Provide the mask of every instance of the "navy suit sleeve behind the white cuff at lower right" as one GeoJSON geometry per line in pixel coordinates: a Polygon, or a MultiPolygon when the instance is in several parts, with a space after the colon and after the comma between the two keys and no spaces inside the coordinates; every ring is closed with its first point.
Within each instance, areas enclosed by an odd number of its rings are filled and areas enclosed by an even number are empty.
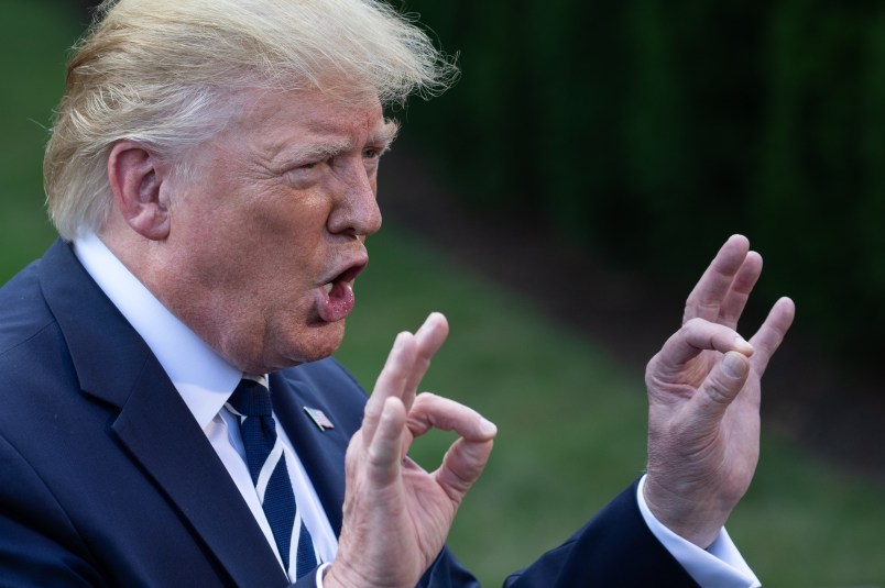
{"type": "Polygon", "coordinates": [[[636,484],[566,543],[511,575],[504,587],[697,587],[643,521],[636,503],[636,484]]]}

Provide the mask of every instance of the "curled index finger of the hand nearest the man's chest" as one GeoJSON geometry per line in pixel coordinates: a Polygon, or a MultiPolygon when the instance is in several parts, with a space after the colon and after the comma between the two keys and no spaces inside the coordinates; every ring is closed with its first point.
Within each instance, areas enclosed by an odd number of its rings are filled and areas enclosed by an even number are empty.
{"type": "Polygon", "coordinates": [[[429,392],[417,396],[408,412],[406,426],[416,437],[430,429],[455,431],[466,440],[476,442],[491,441],[498,434],[498,428],[476,410],[429,392]]]}

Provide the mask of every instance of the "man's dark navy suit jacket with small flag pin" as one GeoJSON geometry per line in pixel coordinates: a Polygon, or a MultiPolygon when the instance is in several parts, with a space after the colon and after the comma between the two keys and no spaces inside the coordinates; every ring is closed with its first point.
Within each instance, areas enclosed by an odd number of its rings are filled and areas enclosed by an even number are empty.
{"type": "MultiPolygon", "coordinates": [[[[61,241],[0,289],[0,586],[288,585],[156,358],[61,241]]],[[[339,533],[365,395],[334,359],[273,374],[271,389],[339,533]]],[[[635,487],[505,585],[695,586],[642,521],[635,487]]],[[[444,550],[420,586],[478,583],[444,550]]]]}

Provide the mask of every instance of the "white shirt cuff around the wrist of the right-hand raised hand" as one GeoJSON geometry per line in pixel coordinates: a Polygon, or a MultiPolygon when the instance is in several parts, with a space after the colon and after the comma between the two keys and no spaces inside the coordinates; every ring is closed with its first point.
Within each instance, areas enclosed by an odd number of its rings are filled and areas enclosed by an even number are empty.
{"type": "Polygon", "coordinates": [[[760,588],[762,586],[724,528],[708,550],[698,547],[664,526],[652,514],[643,496],[644,487],[645,476],[640,480],[636,490],[636,500],[640,503],[640,511],[645,524],[702,588],[760,588]]]}

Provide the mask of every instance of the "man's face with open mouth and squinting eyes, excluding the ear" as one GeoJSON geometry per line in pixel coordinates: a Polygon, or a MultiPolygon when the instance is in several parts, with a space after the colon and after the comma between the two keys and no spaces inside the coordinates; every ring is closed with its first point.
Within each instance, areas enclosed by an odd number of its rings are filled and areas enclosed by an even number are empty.
{"type": "Polygon", "coordinates": [[[341,343],[395,126],[376,100],[298,91],[244,103],[172,180],[172,255],[149,287],[229,362],[264,373],[341,343]]]}

